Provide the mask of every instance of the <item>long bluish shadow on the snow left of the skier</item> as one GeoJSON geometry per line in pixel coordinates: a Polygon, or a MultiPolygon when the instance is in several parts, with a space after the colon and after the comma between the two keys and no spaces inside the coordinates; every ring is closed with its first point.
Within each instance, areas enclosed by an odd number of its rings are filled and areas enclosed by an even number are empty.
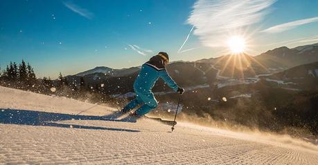
{"type": "Polygon", "coordinates": [[[112,122],[121,122],[115,119],[105,119],[105,117],[87,116],[87,115],[68,115],[62,113],[46,113],[35,110],[12,110],[1,109],[0,124],[21,124],[30,126],[55,126],[62,128],[81,128],[91,130],[116,130],[125,132],[140,132],[139,130],[106,128],[98,126],[80,126],[75,124],[54,123],[62,120],[105,120],[112,122]]]}

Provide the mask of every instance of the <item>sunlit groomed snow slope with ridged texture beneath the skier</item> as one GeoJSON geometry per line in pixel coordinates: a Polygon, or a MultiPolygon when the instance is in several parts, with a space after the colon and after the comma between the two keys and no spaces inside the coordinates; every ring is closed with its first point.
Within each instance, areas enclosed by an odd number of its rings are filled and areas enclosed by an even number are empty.
{"type": "Polygon", "coordinates": [[[317,146],[289,137],[186,123],[169,133],[150,119],[101,120],[114,109],[92,106],[0,87],[0,164],[318,164],[317,146]]]}

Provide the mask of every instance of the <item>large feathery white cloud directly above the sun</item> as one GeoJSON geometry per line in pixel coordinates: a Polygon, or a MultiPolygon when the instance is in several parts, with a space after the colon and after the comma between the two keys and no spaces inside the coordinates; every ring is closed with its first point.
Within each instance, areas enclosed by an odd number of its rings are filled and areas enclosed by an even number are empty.
{"type": "Polygon", "coordinates": [[[204,46],[223,46],[224,37],[257,23],[276,0],[198,0],[188,17],[204,46]]]}

